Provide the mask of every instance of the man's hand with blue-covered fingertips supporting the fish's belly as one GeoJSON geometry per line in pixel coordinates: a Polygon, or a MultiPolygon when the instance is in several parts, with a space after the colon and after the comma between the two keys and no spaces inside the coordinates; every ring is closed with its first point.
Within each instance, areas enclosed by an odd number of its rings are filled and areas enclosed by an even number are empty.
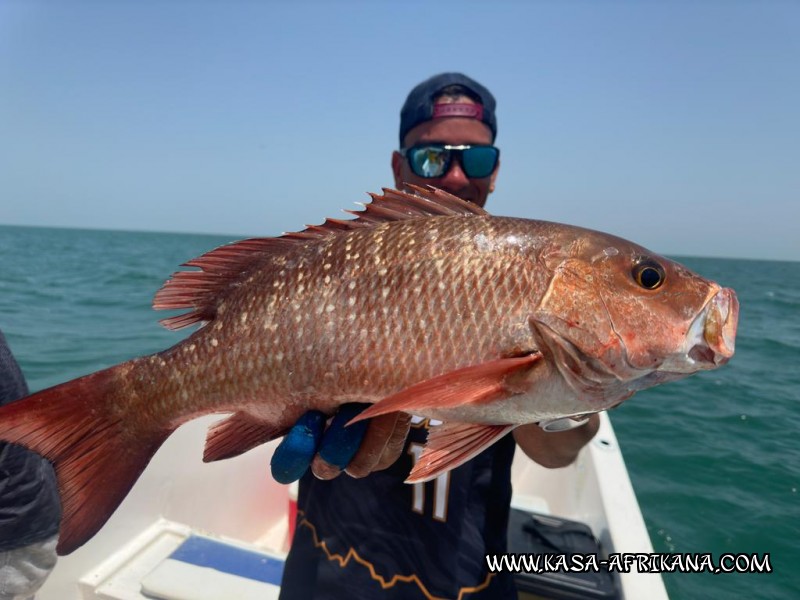
{"type": "Polygon", "coordinates": [[[272,456],[275,480],[297,481],[309,466],[319,479],[333,479],[342,470],[351,477],[364,477],[390,466],[403,450],[411,417],[392,413],[345,427],[368,406],[342,405],[327,429],[325,415],[319,411],[300,417],[272,456]]]}

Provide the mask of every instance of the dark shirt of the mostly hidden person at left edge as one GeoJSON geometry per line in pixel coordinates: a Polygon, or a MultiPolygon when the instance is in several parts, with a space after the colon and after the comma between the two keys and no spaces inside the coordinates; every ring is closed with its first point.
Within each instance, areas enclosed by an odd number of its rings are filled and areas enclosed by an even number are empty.
{"type": "MultiPolygon", "coordinates": [[[[19,365],[0,332],[0,405],[27,394],[19,365]]],[[[60,520],[61,504],[50,463],[22,446],[0,442],[0,552],[54,536],[60,520]]]]}

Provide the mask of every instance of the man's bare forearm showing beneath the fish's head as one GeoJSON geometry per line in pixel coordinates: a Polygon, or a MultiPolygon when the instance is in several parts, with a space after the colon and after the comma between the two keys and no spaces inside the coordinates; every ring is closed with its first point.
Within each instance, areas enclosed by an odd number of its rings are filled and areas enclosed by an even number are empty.
{"type": "Polygon", "coordinates": [[[572,464],[599,427],[600,416],[593,414],[584,425],[567,431],[547,432],[536,424],[522,425],[514,430],[514,439],[531,460],[557,469],[572,464]]]}

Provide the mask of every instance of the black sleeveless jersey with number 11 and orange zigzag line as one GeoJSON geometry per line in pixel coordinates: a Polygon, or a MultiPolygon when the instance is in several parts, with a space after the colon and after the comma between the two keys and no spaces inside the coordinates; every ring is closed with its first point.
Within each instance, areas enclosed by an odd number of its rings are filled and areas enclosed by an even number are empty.
{"type": "Polygon", "coordinates": [[[490,575],[485,560],[506,549],[513,437],[433,481],[405,484],[427,426],[412,426],[385,471],[303,477],[282,599],[516,598],[511,575],[490,575]]]}

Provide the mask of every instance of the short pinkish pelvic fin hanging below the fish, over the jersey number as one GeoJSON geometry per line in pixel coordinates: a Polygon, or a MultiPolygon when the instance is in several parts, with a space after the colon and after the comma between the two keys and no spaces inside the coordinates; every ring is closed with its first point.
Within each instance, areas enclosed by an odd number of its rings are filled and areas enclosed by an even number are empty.
{"type": "Polygon", "coordinates": [[[429,481],[455,469],[514,429],[516,425],[445,423],[433,427],[406,483],[429,481]]]}

